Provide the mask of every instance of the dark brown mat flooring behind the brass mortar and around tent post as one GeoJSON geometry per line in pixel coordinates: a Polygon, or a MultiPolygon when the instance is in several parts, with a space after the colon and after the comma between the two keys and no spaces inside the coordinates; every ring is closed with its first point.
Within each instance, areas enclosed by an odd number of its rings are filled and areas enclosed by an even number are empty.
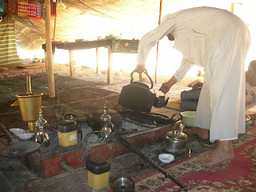
{"type": "MultiPolygon", "coordinates": [[[[42,96],[42,115],[48,123],[56,122],[54,106],[58,102],[65,108],[65,114],[74,114],[78,118],[86,118],[85,113],[90,114],[102,110],[104,105],[112,110],[118,105],[119,94],[98,88],[102,83],[55,75],[55,98],[48,97],[47,83],[46,74],[31,77],[32,92],[44,94],[42,96]]],[[[17,100],[14,97],[15,94],[26,94],[26,77],[8,79],[8,81],[3,81],[1,86],[12,87],[11,90],[16,90],[16,92],[2,91],[0,93],[2,96],[0,122],[6,127],[27,126],[27,122],[22,121],[19,107],[10,106],[17,100]],[[19,86],[21,86],[20,89],[18,89],[19,86]]]]}

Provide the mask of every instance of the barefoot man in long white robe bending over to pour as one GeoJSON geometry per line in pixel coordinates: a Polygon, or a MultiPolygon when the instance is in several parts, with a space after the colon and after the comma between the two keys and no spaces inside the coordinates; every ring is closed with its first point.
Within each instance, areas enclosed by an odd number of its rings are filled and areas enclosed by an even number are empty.
{"type": "MultiPolygon", "coordinates": [[[[160,90],[166,94],[193,65],[204,67],[204,84],[198,101],[193,134],[217,146],[198,162],[214,166],[234,158],[232,140],[245,133],[245,58],[250,31],[228,10],[196,7],[164,17],[161,25],[145,34],[138,45],[135,70],[146,71],[151,48],[165,36],[183,54],[181,66],[160,90]]],[[[170,56],[171,60],[171,56],[170,56]]],[[[170,63],[171,64],[171,63],[170,63]]]]}

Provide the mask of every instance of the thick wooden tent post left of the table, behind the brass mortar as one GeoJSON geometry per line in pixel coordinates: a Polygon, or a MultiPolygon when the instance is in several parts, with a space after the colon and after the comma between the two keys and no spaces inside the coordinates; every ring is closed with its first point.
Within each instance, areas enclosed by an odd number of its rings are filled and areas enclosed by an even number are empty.
{"type": "Polygon", "coordinates": [[[50,0],[45,0],[46,7],[46,59],[47,59],[47,73],[48,73],[48,92],[49,97],[55,97],[54,87],[54,63],[53,53],[51,45],[51,33],[50,33],[50,0]]]}

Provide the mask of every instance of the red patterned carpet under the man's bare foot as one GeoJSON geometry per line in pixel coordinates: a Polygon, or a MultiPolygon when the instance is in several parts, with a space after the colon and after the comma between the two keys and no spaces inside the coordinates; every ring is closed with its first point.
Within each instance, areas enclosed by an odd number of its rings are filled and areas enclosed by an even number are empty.
{"type": "MultiPolygon", "coordinates": [[[[194,160],[209,151],[165,167],[188,191],[256,191],[256,126],[234,141],[233,161],[203,168],[194,160]]],[[[178,191],[180,188],[158,171],[135,181],[136,192],[178,191]]]]}

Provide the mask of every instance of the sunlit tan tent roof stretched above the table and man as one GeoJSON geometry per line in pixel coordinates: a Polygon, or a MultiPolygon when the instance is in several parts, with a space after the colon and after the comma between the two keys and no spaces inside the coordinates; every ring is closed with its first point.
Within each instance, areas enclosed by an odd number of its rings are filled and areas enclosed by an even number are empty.
{"type": "MultiPolygon", "coordinates": [[[[43,0],[31,0],[44,2],[43,0]]],[[[253,0],[243,0],[243,2],[253,0]]],[[[230,10],[232,0],[162,1],[162,15],[193,6],[216,6],[230,10]]],[[[139,39],[158,26],[160,0],[59,0],[57,18],[51,18],[54,41],[106,38],[139,39]],[[55,29],[55,30],[54,30],[55,29]]],[[[38,50],[45,43],[45,20],[8,15],[3,22],[15,22],[18,49],[38,50]]]]}

